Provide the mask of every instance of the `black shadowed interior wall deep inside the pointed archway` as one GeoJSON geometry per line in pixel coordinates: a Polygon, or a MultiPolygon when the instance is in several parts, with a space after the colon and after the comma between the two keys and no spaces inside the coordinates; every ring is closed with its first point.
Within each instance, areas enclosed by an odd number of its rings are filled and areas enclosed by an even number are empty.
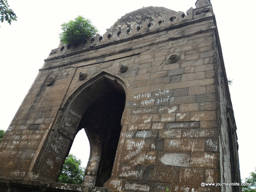
{"type": "Polygon", "coordinates": [[[102,187],[110,178],[121,132],[125,94],[105,92],[84,113],[79,128],[84,128],[90,142],[90,158],[84,185],[102,187]]]}

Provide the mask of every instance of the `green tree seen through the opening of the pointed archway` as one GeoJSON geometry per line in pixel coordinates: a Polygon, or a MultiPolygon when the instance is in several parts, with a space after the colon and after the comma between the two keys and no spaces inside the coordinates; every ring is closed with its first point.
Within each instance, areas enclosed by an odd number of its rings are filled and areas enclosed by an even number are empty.
{"type": "Polygon", "coordinates": [[[85,168],[81,166],[81,160],[75,155],[69,154],[62,167],[58,182],[81,185],[84,180],[85,168]]]}

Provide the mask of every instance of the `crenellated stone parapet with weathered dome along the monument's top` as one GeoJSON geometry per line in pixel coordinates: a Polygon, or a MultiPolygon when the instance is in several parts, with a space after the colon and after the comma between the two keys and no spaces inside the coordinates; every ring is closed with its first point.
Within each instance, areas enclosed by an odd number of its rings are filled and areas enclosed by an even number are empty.
{"type": "Polygon", "coordinates": [[[65,57],[77,52],[86,52],[110,44],[124,42],[171,28],[186,26],[191,21],[196,22],[196,20],[212,15],[211,4],[198,8],[191,7],[186,13],[176,12],[164,7],[151,6],[141,8],[122,16],[103,36],[100,34],[96,34],[94,37],[89,36],[77,46],[60,42],[58,48],[50,52],[46,61],[56,57],[65,57]]]}

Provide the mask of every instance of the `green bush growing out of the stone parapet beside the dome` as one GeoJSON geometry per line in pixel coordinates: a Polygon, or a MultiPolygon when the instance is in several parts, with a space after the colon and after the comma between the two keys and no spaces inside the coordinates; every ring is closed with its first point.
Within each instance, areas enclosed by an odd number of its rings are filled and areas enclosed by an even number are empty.
{"type": "Polygon", "coordinates": [[[59,34],[60,41],[67,44],[74,44],[75,46],[83,42],[88,36],[95,36],[98,32],[90,20],[82,16],[78,16],[68,23],[63,23],[61,29],[63,32],[59,34]]]}

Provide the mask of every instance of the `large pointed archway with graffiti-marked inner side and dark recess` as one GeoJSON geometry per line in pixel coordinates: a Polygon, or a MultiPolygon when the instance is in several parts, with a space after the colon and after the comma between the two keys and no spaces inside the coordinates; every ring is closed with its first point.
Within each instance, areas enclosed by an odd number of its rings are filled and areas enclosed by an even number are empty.
{"type": "Polygon", "coordinates": [[[84,184],[103,186],[110,178],[122,129],[120,121],[127,95],[126,85],[130,86],[120,77],[102,71],[69,96],[46,138],[38,166],[34,168],[39,178],[58,180],[72,142],[84,128],[90,142],[84,184]]]}

